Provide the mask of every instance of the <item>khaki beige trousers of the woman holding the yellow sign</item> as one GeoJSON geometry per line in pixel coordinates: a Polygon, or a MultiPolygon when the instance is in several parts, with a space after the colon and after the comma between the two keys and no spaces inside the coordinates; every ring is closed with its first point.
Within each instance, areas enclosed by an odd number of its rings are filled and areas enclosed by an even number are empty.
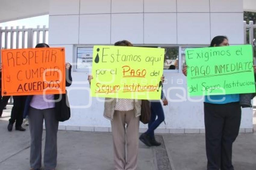
{"type": "Polygon", "coordinates": [[[114,142],[114,169],[136,170],[139,150],[139,117],[135,117],[134,110],[115,111],[111,127],[114,142]],[[126,129],[125,124],[127,124],[126,129]],[[125,153],[126,144],[127,153],[125,153]]]}

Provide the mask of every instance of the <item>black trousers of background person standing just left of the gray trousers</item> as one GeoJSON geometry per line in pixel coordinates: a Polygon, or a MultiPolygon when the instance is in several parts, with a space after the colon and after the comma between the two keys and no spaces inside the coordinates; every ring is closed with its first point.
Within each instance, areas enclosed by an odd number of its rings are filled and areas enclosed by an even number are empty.
{"type": "Polygon", "coordinates": [[[23,122],[23,111],[25,107],[26,96],[13,96],[13,107],[11,109],[10,123],[15,123],[15,127],[20,127],[23,122]]]}

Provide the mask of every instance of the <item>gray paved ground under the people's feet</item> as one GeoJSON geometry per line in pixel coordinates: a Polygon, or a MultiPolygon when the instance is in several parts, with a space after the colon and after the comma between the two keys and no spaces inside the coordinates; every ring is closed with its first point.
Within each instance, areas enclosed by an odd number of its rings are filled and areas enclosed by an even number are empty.
{"type": "MultiPolygon", "coordinates": [[[[9,113],[0,119],[0,170],[28,170],[30,135],[8,132],[9,113]]],[[[139,145],[138,170],[205,170],[202,134],[158,135],[161,147],[139,145]]],[[[44,139],[43,139],[44,143],[44,139]]],[[[44,146],[43,146],[44,148],[44,146]]],[[[240,134],[233,147],[236,170],[256,170],[256,133],[240,134]]],[[[58,132],[58,170],[113,170],[111,133],[58,132]]]]}

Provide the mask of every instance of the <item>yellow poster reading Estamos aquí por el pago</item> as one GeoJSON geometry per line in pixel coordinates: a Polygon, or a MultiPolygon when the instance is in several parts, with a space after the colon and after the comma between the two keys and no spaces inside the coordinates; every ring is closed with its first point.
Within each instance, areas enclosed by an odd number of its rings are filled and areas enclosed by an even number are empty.
{"type": "Polygon", "coordinates": [[[91,96],[160,99],[164,49],[94,46],[91,96]]]}

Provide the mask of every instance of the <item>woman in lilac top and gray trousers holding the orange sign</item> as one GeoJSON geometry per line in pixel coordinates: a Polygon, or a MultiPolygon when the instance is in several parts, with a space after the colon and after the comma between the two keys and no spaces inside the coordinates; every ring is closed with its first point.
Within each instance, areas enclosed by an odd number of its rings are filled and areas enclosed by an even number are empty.
{"type": "MultiPolygon", "coordinates": [[[[48,48],[48,44],[37,44],[36,48],[48,48]]],[[[65,63],[66,67],[66,86],[70,86],[72,82],[71,65],[65,63]]],[[[27,96],[24,117],[28,115],[30,127],[30,167],[31,170],[39,170],[41,168],[42,158],[42,132],[43,122],[45,121],[45,151],[44,165],[45,170],[54,170],[57,165],[57,132],[58,120],[55,118],[57,110],[57,102],[63,100],[61,94],[56,95],[34,95],[27,96]],[[55,107],[56,106],[56,107],[55,107]]],[[[66,107],[66,106],[62,106],[66,107]]]]}

